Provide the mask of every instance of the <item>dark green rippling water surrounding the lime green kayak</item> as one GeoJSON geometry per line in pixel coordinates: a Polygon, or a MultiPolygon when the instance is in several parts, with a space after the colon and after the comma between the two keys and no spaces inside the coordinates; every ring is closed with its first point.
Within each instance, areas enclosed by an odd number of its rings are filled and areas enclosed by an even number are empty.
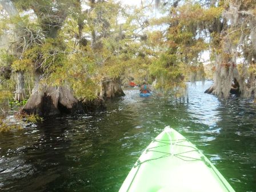
{"type": "Polygon", "coordinates": [[[126,90],[102,113],[0,133],[0,191],[118,191],[167,125],[197,145],[236,191],[256,191],[256,106],[203,94],[210,83],[190,86],[188,103],[126,90]]]}

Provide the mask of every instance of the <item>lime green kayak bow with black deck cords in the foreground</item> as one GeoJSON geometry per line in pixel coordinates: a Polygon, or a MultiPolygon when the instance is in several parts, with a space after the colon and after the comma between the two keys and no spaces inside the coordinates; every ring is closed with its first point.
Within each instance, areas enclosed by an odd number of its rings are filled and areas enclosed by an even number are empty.
{"type": "Polygon", "coordinates": [[[234,189],[185,137],[166,127],[146,148],[119,192],[220,192],[234,189]]]}

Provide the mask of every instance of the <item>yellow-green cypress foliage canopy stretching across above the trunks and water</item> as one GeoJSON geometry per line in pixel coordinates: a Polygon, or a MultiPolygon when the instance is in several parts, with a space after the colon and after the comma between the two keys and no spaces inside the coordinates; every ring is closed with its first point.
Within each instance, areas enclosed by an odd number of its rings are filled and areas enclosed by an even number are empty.
{"type": "MultiPolygon", "coordinates": [[[[115,1],[85,1],[90,7],[87,10],[82,9],[81,1],[14,2],[23,16],[5,19],[1,29],[12,24],[24,30],[26,46],[19,47],[22,57],[3,54],[1,66],[11,65],[14,71],[33,74],[31,77],[37,73],[42,85],[69,85],[76,97],[86,99],[97,97],[102,79],[121,76],[134,77],[137,83],[157,79],[159,89],[181,94],[192,74],[204,78],[198,61],[201,53],[211,50],[214,59],[215,53],[223,51],[217,24],[232,3],[167,3],[158,8],[162,17],[150,18],[153,6],[148,1],[143,1],[143,7],[129,9],[115,1]],[[163,25],[166,27],[158,27],[163,25]]],[[[243,1],[240,8],[249,9],[249,4],[243,1]]],[[[250,35],[249,30],[242,31],[250,35]]],[[[226,33],[233,45],[239,44],[240,30],[230,27],[226,33]]]]}

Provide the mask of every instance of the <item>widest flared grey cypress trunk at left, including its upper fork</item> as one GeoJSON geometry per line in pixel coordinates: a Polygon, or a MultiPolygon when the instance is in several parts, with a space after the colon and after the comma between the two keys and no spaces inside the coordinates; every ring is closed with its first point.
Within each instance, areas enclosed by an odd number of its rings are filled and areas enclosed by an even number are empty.
{"type": "MultiPolygon", "coordinates": [[[[67,16],[65,5],[63,9],[54,12],[53,18],[42,17],[41,9],[38,6],[33,7],[35,14],[41,19],[42,29],[46,38],[56,38],[58,30],[61,29],[67,16]]],[[[41,63],[41,61],[38,61],[41,63]]],[[[40,66],[40,65],[38,65],[40,66]]],[[[76,114],[84,113],[82,103],[74,97],[73,91],[68,85],[50,86],[41,85],[41,76],[43,69],[38,68],[35,71],[35,84],[29,100],[23,107],[22,112],[26,114],[38,114],[46,117],[57,114],[76,114]]]]}

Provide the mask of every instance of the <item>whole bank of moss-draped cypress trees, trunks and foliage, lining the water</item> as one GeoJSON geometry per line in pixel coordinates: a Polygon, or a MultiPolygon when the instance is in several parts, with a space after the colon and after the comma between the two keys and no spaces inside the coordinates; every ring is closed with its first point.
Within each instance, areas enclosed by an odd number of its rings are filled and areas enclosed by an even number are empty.
{"type": "Polygon", "coordinates": [[[13,105],[13,117],[30,122],[104,110],[131,81],[180,98],[187,81],[213,79],[205,93],[255,98],[255,6],[0,0],[1,130],[13,105]]]}

